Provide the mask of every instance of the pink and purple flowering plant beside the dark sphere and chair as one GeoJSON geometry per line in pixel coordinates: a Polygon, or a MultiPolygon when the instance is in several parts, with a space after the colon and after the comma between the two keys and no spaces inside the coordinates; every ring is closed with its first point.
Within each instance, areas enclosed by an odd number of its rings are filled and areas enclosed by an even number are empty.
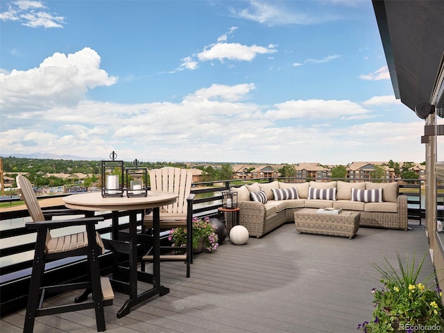
{"type": "MultiPolygon", "coordinates": [[[[210,218],[205,219],[193,218],[193,248],[197,248],[200,239],[203,239],[204,247],[212,252],[216,250],[219,244],[217,243],[218,237],[215,232],[216,227],[210,223],[210,218]]],[[[173,242],[173,246],[180,246],[185,248],[187,246],[187,229],[186,228],[174,228],[169,232],[169,241],[173,242]]]]}

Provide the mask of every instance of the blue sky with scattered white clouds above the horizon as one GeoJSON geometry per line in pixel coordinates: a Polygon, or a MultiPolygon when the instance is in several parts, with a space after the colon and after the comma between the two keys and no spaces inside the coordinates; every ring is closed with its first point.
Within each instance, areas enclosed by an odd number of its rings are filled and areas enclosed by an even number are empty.
{"type": "Polygon", "coordinates": [[[424,160],[371,1],[0,1],[0,155],[424,160]]]}

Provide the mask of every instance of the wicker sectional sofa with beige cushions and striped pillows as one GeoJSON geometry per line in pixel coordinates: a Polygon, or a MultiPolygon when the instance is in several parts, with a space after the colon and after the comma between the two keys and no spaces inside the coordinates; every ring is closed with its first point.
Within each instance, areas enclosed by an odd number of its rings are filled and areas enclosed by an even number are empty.
{"type": "Polygon", "coordinates": [[[399,195],[397,182],[287,183],[275,180],[232,187],[231,190],[237,191],[239,224],[244,225],[253,237],[262,237],[284,223],[294,222],[294,212],[304,207],[358,211],[361,212],[361,227],[407,230],[407,196],[399,195]],[[295,187],[297,198],[293,198],[295,187]],[[382,198],[368,197],[375,191],[382,198]],[[275,200],[275,197],[282,198],[282,193],[290,193],[292,198],[284,195],[284,200],[275,200]],[[355,195],[353,200],[352,193],[355,195]],[[368,196],[363,200],[364,194],[368,196]]]}

